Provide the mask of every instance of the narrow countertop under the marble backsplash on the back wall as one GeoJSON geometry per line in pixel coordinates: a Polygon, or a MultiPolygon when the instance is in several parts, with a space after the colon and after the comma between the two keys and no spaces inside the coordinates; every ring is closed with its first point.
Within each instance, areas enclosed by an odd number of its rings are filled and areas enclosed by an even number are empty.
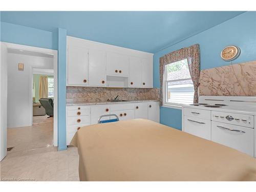
{"type": "Polygon", "coordinates": [[[159,101],[157,99],[153,100],[134,100],[134,101],[120,101],[120,102],[84,102],[84,101],[69,101],[66,103],[67,106],[73,105],[100,105],[100,104],[123,104],[123,103],[138,103],[138,102],[148,102],[148,101],[159,101]]]}

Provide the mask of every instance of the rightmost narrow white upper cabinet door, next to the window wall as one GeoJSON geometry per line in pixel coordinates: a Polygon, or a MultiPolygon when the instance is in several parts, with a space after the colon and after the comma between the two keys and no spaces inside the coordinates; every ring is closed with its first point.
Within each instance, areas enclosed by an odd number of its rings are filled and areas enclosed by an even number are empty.
{"type": "Polygon", "coordinates": [[[142,63],[142,87],[153,88],[153,62],[150,58],[143,58],[142,63]]]}

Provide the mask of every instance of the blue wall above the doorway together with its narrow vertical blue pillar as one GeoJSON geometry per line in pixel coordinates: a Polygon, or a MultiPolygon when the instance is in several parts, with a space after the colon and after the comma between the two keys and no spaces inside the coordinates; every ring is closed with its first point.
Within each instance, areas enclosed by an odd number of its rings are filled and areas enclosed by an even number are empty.
{"type": "Polygon", "coordinates": [[[1,41],[58,50],[58,150],[66,150],[66,36],[67,30],[49,32],[1,22],[1,41]]]}

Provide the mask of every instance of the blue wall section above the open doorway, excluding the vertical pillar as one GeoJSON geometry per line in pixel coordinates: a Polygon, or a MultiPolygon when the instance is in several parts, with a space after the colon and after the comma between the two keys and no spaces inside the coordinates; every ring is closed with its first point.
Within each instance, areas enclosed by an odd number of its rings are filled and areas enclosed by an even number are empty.
{"type": "Polygon", "coordinates": [[[58,34],[31,27],[1,22],[1,40],[33,47],[58,49],[58,34]]]}

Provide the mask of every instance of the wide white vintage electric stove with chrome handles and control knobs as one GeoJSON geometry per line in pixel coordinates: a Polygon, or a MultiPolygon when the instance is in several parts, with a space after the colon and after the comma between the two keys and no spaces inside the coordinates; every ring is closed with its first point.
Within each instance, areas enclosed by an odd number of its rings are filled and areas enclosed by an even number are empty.
{"type": "Polygon", "coordinates": [[[182,114],[182,131],[256,157],[256,97],[200,96],[182,114]]]}

